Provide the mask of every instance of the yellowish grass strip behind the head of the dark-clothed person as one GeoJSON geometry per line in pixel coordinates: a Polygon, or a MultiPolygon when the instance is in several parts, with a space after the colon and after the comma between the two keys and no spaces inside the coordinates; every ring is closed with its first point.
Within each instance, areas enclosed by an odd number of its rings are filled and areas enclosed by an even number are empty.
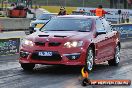
{"type": "MultiPolygon", "coordinates": [[[[52,13],[58,13],[60,10],[60,6],[41,6],[41,8],[44,8],[52,13]]],[[[73,10],[77,9],[77,7],[65,7],[65,8],[66,8],[67,14],[71,14],[73,10]]]]}

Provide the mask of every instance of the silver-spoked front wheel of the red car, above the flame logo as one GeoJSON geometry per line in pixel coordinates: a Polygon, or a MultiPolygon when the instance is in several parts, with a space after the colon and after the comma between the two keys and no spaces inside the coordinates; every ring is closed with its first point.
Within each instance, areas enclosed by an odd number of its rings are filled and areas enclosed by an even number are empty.
{"type": "Polygon", "coordinates": [[[87,56],[86,56],[86,69],[88,72],[92,71],[93,65],[94,65],[94,53],[93,53],[93,49],[90,47],[88,48],[87,56]]]}

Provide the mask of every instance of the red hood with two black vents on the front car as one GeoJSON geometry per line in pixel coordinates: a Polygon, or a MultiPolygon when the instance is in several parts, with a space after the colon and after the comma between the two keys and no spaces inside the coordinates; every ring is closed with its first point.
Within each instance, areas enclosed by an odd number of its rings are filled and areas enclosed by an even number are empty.
{"type": "Polygon", "coordinates": [[[35,32],[27,38],[34,42],[37,41],[74,41],[74,40],[89,40],[91,39],[91,32],[76,32],[76,31],[47,31],[35,32]]]}

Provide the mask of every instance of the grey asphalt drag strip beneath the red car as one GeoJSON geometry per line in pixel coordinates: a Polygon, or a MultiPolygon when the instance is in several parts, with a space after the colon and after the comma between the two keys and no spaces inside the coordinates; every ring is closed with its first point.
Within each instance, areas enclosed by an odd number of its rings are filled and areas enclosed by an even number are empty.
{"type": "MultiPolygon", "coordinates": [[[[90,79],[132,80],[132,39],[121,43],[121,62],[118,67],[107,63],[96,65],[90,79]]],[[[0,56],[0,88],[82,88],[80,67],[37,65],[24,72],[18,63],[19,55],[0,56]]],[[[86,88],[132,88],[131,86],[87,86],[86,88]]]]}

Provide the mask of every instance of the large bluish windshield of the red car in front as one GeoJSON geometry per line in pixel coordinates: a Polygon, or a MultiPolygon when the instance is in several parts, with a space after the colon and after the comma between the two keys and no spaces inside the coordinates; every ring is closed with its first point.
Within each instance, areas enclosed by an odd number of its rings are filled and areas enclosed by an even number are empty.
{"type": "Polygon", "coordinates": [[[82,31],[89,32],[92,26],[92,19],[86,18],[53,18],[41,31],[82,31]]]}

